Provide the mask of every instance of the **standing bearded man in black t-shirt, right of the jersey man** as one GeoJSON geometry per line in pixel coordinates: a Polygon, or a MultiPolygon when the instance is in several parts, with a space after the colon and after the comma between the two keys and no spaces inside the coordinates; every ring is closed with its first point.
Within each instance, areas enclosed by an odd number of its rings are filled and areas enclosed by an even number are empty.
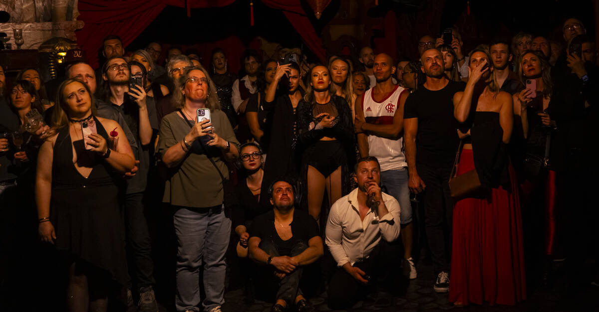
{"type": "Polygon", "coordinates": [[[459,145],[458,121],[453,117],[453,94],[464,90],[464,84],[445,77],[443,54],[436,48],[424,51],[420,61],[426,82],[406,99],[404,145],[410,191],[423,194],[426,235],[437,274],[433,288],[436,292],[447,292],[446,243],[451,241],[453,209],[449,175],[459,145]]]}

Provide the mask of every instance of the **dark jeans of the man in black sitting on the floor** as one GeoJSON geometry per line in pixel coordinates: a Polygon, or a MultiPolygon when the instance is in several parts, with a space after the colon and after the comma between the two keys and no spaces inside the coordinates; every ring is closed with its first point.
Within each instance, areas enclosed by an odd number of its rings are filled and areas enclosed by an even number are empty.
{"type": "MultiPolygon", "coordinates": [[[[265,253],[271,255],[273,257],[280,256],[279,249],[276,244],[272,240],[262,240],[258,247],[264,250],[265,253]]],[[[308,248],[308,245],[304,241],[298,241],[295,244],[294,248],[291,250],[291,255],[289,256],[297,256],[300,253],[304,252],[308,248]]],[[[272,274],[272,273],[270,273],[272,274]]],[[[302,295],[301,290],[299,289],[299,280],[301,279],[302,267],[297,267],[295,271],[287,276],[279,280],[279,290],[277,290],[277,299],[283,299],[287,301],[288,305],[295,303],[295,298],[299,295],[302,295]]],[[[272,275],[271,275],[272,276],[272,275]]],[[[264,277],[263,277],[264,278],[264,277]]]]}

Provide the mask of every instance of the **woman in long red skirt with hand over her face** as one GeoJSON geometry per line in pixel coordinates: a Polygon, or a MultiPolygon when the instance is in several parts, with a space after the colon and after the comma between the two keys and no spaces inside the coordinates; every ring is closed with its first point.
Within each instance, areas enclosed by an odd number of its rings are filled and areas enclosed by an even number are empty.
{"type": "Polygon", "coordinates": [[[482,185],[453,210],[449,301],[456,305],[526,299],[518,184],[506,150],[512,97],[499,90],[490,60],[485,50],[474,50],[468,84],[453,97],[456,119],[470,129],[457,174],[476,170],[482,185]]]}

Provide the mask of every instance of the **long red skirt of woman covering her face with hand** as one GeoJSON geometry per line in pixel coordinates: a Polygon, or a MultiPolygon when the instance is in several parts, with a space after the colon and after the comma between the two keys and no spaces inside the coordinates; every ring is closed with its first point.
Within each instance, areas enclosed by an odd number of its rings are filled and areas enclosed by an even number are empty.
{"type": "MultiPolygon", "coordinates": [[[[458,175],[473,169],[472,150],[464,149],[458,175]]],[[[509,173],[509,191],[494,188],[488,198],[455,204],[450,302],[515,305],[526,299],[522,218],[511,165],[509,173]]]]}

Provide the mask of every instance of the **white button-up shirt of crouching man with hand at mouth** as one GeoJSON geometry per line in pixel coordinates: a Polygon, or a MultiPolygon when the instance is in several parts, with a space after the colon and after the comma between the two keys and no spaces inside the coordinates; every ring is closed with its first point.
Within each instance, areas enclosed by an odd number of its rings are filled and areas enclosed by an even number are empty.
{"type": "Polygon", "coordinates": [[[381,193],[389,213],[379,218],[368,210],[364,220],[360,219],[358,205],[359,189],[337,200],[331,207],[326,222],[326,246],[337,261],[337,266],[368,258],[381,236],[394,241],[400,236],[400,204],[391,195],[381,193]]]}

